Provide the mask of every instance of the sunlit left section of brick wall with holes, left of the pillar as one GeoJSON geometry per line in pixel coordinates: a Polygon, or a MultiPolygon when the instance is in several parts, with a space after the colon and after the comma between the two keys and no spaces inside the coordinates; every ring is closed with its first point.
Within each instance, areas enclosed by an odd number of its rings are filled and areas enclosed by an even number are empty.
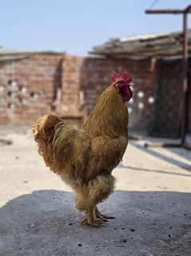
{"type": "Polygon", "coordinates": [[[62,55],[30,55],[0,64],[0,124],[30,125],[53,108],[62,55]]]}

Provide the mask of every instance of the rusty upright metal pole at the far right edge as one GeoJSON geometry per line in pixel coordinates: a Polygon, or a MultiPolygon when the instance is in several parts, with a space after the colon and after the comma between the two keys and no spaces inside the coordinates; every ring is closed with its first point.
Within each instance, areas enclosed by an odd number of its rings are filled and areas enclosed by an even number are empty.
{"type": "Polygon", "coordinates": [[[185,144],[186,133],[186,96],[188,91],[188,52],[189,52],[189,37],[187,30],[188,15],[183,14],[183,88],[182,88],[182,119],[181,119],[181,144],[185,144]]]}

